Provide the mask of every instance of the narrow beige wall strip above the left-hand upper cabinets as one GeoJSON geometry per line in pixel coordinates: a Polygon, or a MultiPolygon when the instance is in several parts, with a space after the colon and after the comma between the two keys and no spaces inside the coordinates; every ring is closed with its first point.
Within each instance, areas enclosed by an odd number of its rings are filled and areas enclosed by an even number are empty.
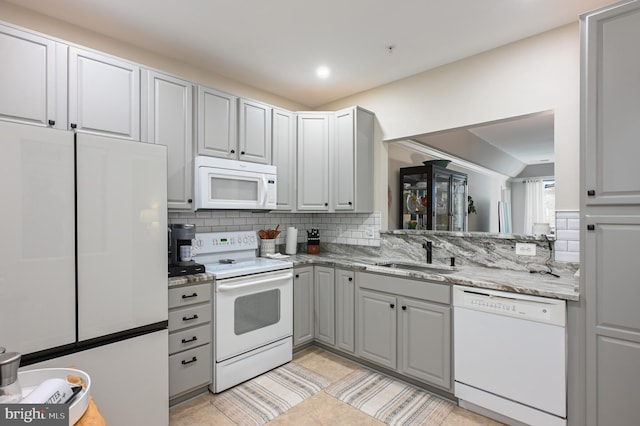
{"type": "MultiPolygon", "coordinates": [[[[52,5],[51,7],[56,6],[52,5]]],[[[69,13],[73,13],[73,11],[69,11],[69,13]]],[[[122,43],[66,22],[17,7],[2,0],[0,0],[0,21],[53,36],[65,42],[71,42],[100,52],[109,53],[196,83],[233,93],[234,95],[260,100],[293,111],[309,109],[305,105],[281,98],[255,87],[238,83],[211,71],[193,67],[167,56],[122,43]]]]}

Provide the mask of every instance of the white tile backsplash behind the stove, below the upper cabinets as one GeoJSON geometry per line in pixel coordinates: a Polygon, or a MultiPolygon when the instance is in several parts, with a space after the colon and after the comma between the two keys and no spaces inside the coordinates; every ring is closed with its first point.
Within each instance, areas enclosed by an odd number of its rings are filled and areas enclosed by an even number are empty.
{"type": "Polygon", "coordinates": [[[169,212],[169,223],[192,223],[196,232],[257,231],[280,225],[276,244],[285,244],[287,227],[298,229],[298,243],[306,243],[307,229],[318,228],[320,241],[333,244],[380,246],[380,213],[279,213],[243,210],[169,212]]]}

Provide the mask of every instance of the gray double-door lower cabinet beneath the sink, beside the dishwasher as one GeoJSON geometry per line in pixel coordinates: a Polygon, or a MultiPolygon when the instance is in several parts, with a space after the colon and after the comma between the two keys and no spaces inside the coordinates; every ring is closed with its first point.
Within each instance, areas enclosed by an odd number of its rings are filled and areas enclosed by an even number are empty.
{"type": "Polygon", "coordinates": [[[366,272],[356,278],[356,354],[450,391],[450,286],[366,272]]]}

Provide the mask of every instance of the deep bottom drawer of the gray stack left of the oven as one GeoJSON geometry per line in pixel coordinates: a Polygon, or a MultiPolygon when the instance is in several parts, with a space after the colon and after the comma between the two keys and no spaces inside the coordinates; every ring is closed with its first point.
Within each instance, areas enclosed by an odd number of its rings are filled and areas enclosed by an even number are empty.
{"type": "Polygon", "coordinates": [[[211,345],[169,357],[169,396],[211,383],[211,345]]]}

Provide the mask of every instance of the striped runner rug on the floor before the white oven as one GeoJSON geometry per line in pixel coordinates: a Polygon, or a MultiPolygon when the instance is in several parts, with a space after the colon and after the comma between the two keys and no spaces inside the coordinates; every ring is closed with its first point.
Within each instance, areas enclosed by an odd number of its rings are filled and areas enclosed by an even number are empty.
{"type": "Polygon", "coordinates": [[[216,395],[211,403],[237,425],[263,425],[328,384],[324,376],[289,363],[216,395]]]}

